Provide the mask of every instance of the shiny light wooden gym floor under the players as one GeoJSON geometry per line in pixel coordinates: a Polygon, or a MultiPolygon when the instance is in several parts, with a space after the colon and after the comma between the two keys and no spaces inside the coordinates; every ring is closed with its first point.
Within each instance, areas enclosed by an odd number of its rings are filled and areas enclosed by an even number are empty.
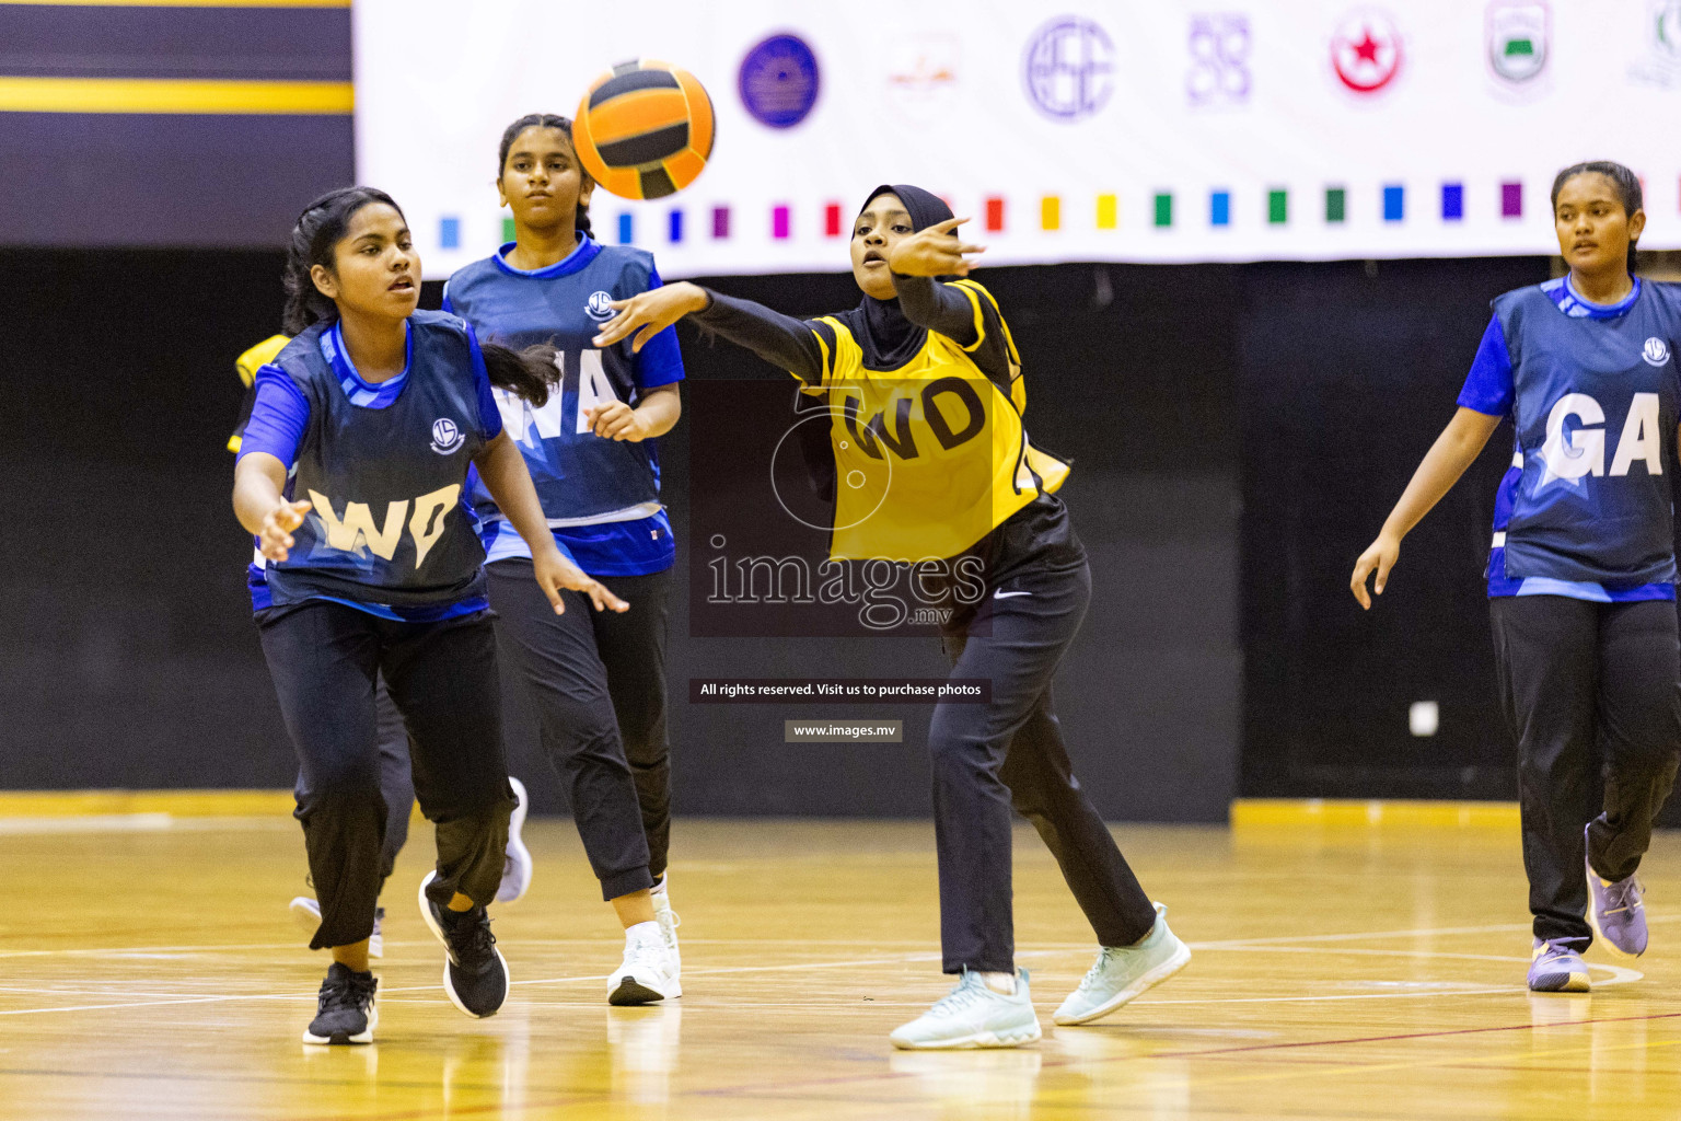
{"type": "Polygon", "coordinates": [[[286,818],[0,822],[3,1118],[1674,1118],[1681,839],[1647,860],[1654,950],[1594,951],[1592,995],[1523,988],[1510,829],[1120,829],[1195,950],[1093,1027],[1049,1013],[1088,929],[1029,832],[1017,943],[1046,1039],[898,1054],[938,998],[926,824],[679,822],[684,987],[609,1008],[620,936],[570,822],[535,820],[531,894],[498,914],[508,1005],[469,1020],[414,906],[387,894],[373,1047],[304,1047],[326,961],[286,901],[286,818]],[[1627,968],[1636,965],[1637,968],[1627,968]]]}

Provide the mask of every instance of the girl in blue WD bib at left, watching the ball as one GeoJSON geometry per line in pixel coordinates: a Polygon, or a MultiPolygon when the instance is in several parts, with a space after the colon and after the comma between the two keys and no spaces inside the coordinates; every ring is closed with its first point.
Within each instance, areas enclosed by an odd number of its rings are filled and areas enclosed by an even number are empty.
{"type": "MultiPolygon", "coordinates": [[[[313,1044],[365,1044],[377,1022],[368,936],[387,822],[375,681],[408,729],[415,795],[437,824],[420,911],[445,946],[444,988],[494,1015],[508,965],[484,906],[503,876],[513,797],[503,760],[484,550],[466,503],[474,467],[518,524],[540,528],[524,461],[491,387],[541,402],[551,351],[481,346],[466,323],[415,311],[420,262],[397,203],[356,187],[304,210],[287,254],[286,328],[256,378],[234,509],[267,561],[264,657],[298,748],[298,820],[329,948],[313,1044]]],[[[624,610],[553,548],[536,583],[624,610]]]]}

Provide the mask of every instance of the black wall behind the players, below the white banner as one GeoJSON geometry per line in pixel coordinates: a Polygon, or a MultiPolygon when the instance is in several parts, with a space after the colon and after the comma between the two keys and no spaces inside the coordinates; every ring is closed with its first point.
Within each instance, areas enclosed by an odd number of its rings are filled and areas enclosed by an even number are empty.
{"type": "MultiPolygon", "coordinates": [[[[284,787],[292,760],[244,592],[229,506],[234,356],[277,326],[279,255],[3,250],[0,299],[0,787],[284,787]]],[[[1220,820],[1237,793],[1515,795],[1481,568],[1501,430],[1407,539],[1377,610],[1346,592],[1454,408],[1488,299],[1545,259],[1056,266],[978,274],[1010,319],[1034,437],[1064,487],[1096,595],[1057,679],[1103,812],[1220,820]],[[1414,738],[1407,706],[1437,701],[1414,738]]],[[[713,281],[790,313],[844,308],[847,276],[713,281]]],[[[427,301],[437,301],[429,286],[427,301]]],[[[782,378],[682,328],[696,383],[782,378]]],[[[931,640],[694,639],[689,432],[666,439],[679,536],[671,682],[684,813],[921,815],[920,706],[904,745],[783,745],[787,711],[689,706],[688,679],[930,677],[931,640]]],[[[563,805],[509,689],[511,755],[563,805]]],[[[802,706],[800,716],[815,714],[802,706]]]]}

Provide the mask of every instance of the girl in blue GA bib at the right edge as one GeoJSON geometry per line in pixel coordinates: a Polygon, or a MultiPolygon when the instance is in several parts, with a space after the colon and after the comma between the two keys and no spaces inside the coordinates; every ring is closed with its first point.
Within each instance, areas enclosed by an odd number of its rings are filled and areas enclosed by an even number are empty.
{"type": "Polygon", "coordinates": [[[1595,934],[1646,951],[1636,871],[1681,753],[1671,477],[1681,442],[1681,287],[1634,276],[1641,182],[1565,168],[1553,224],[1570,272],[1506,292],[1459,393],[1352,588],[1370,608],[1402,538],[1501,420],[1516,447],[1494,499],[1488,595],[1499,701],[1518,743],[1535,992],[1585,992],[1595,934]]]}

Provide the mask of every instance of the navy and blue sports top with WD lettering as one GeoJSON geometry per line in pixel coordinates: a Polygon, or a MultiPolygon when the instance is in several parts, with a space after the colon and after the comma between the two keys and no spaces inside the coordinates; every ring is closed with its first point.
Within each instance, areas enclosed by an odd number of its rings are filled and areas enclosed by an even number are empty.
{"type": "Polygon", "coordinates": [[[254,610],[333,600],[429,622],[486,608],[466,484],[501,412],[472,328],[417,311],[407,331],[402,373],[380,383],[356,371],[338,323],[303,331],[257,371],[240,459],[279,459],[286,497],[313,509],[286,561],[256,555],[254,610]]]}

